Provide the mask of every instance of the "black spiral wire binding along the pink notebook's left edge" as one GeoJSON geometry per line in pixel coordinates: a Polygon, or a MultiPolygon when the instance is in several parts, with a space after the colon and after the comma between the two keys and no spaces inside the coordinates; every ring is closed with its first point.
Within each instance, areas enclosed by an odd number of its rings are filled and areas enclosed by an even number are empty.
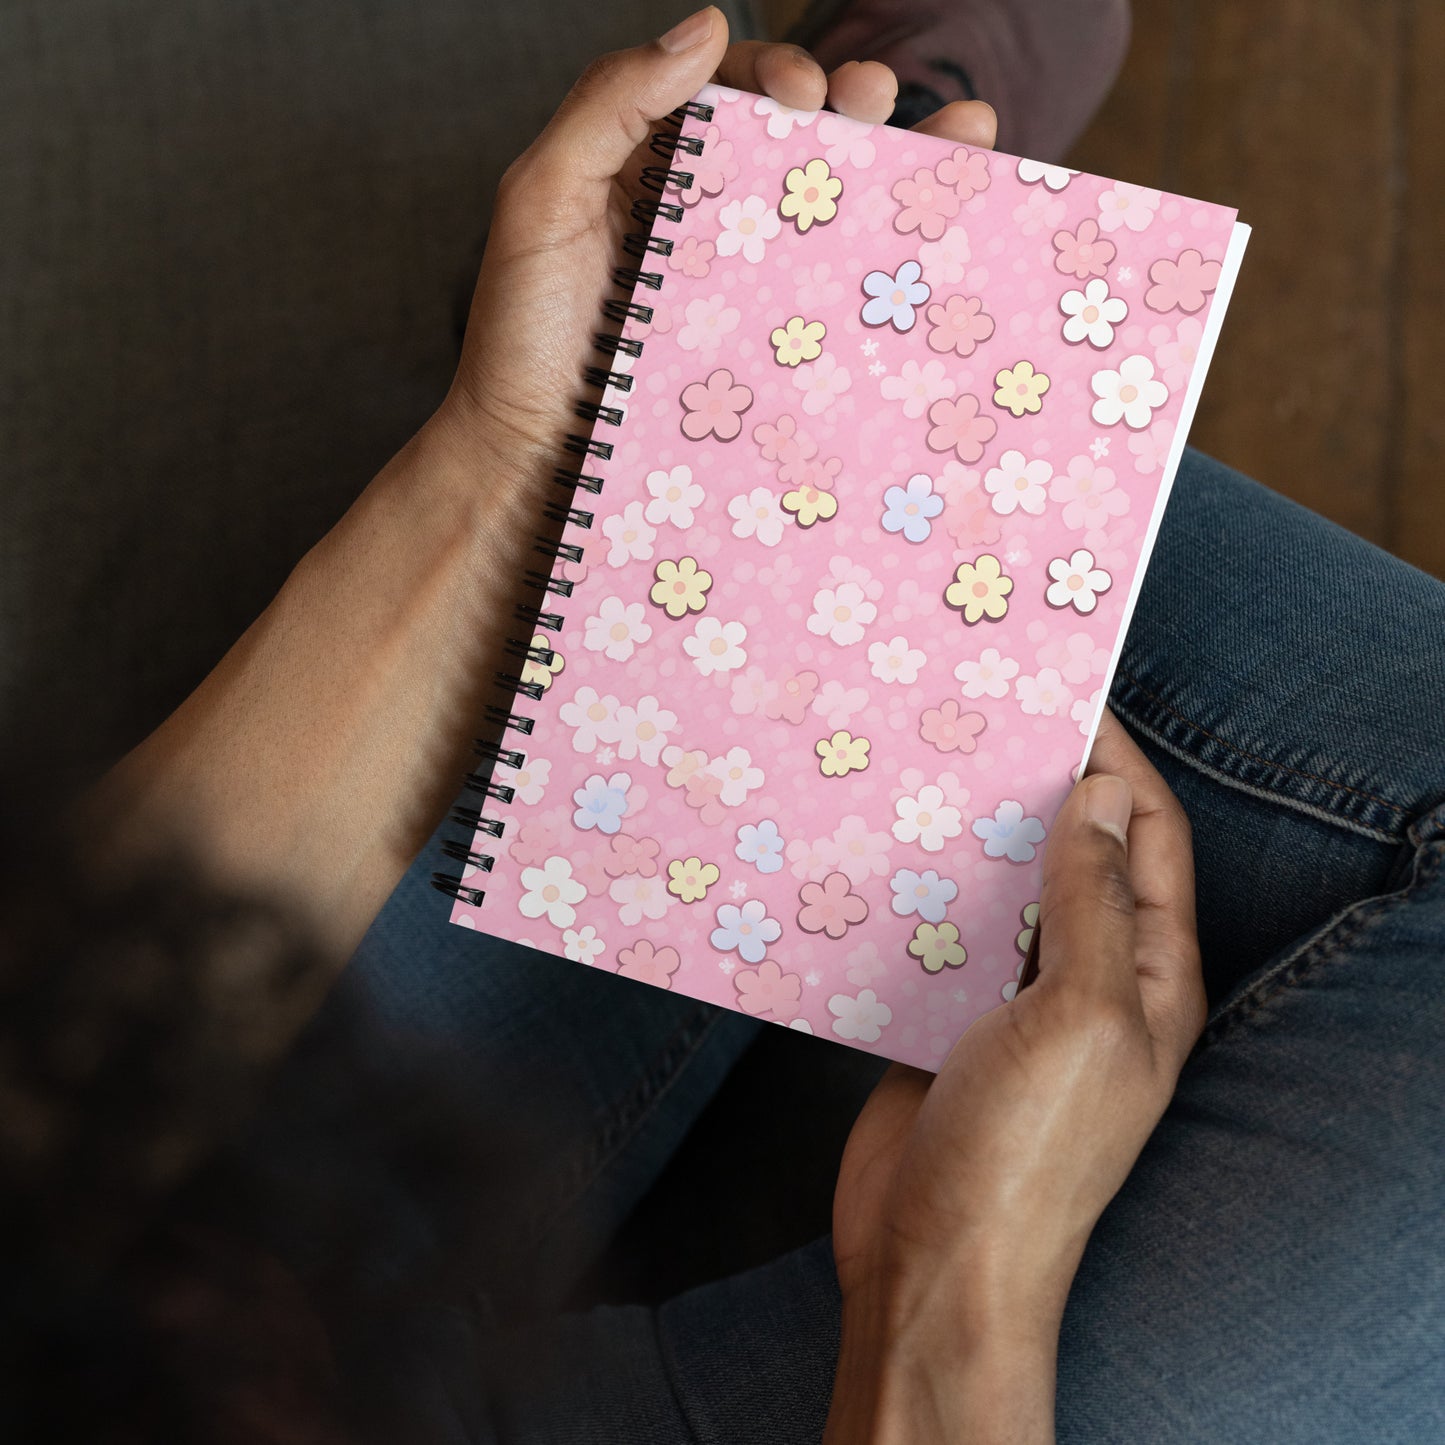
{"type": "MultiPolygon", "coordinates": [[[[669,117],[669,120],[676,121],[679,126],[685,120],[707,121],[711,118],[711,105],[691,100],[685,105],[679,105],[669,117]]],[[[694,184],[695,176],[691,171],[675,169],[672,166],[672,160],[679,155],[699,156],[702,155],[704,144],[705,142],[701,136],[682,136],[676,130],[659,130],[649,142],[649,146],[653,155],[668,162],[668,165],[644,166],[642,171],[642,184],[649,191],[656,192],[659,198],[669,186],[676,191],[686,191],[694,184]]],[[[633,201],[631,217],[639,223],[639,225],[646,227],[646,230],[629,231],[623,238],[623,250],[629,256],[636,257],[639,262],[646,262],[652,256],[670,256],[673,243],[666,237],[653,236],[652,233],[659,221],[676,224],[682,220],[682,215],[683,208],[672,201],[639,197],[633,201]]],[[[626,299],[618,298],[605,302],[603,314],[608,321],[614,321],[618,325],[629,321],[646,325],[652,321],[653,308],[637,301],[636,296],[639,292],[660,290],[665,279],[666,276],[663,272],[643,269],[642,266],[614,267],[613,280],[629,295],[626,299]]],[[[597,344],[597,350],[608,364],[590,366],[585,377],[587,384],[597,387],[603,393],[607,390],[614,393],[630,392],[633,389],[633,379],[627,371],[617,370],[616,358],[618,355],[640,357],[643,342],[636,337],[617,335],[613,332],[598,332],[594,337],[594,341],[597,344]]],[[[594,432],[603,426],[621,426],[626,416],[623,407],[604,406],[601,402],[578,402],[574,410],[581,420],[592,423],[594,432]]],[[[592,434],[582,436],[581,434],[569,432],[565,447],[569,452],[572,452],[572,455],[579,457],[584,461],[590,457],[595,457],[600,461],[608,461],[613,455],[613,444],[601,441],[592,434]]],[[[564,529],[590,529],[595,513],[575,506],[574,499],[578,491],[587,491],[595,496],[603,490],[604,478],[592,473],[582,471],[581,468],[558,467],[553,474],[553,481],[556,481],[558,486],[568,488],[568,497],[566,500],[558,497],[556,501],[548,503],[542,509],[543,516],[564,529]]],[[[543,604],[549,597],[569,598],[572,595],[574,584],[565,577],[553,575],[552,568],[558,561],[581,562],[582,549],[575,543],[562,542],[555,536],[539,533],[533,542],[533,551],[542,553],[548,559],[549,566],[545,572],[538,571],[536,568],[529,568],[522,574],[523,581],[540,592],[543,604]]],[[[526,603],[517,604],[514,617],[519,624],[527,629],[527,636],[510,637],[503,650],[509,657],[517,659],[519,666],[516,669],[516,675],[512,672],[499,672],[496,675],[496,681],[500,686],[509,689],[516,696],[529,698],[536,702],[542,698],[546,688],[539,682],[523,682],[522,672],[526,669],[527,663],[549,668],[556,660],[556,653],[545,644],[543,639],[538,636],[538,633],[561,631],[564,618],[561,613],[539,610],[539,607],[529,605],[526,603]]],[[[530,737],[535,720],[512,712],[509,708],[488,707],[486,711],[486,721],[499,736],[516,733],[520,737],[530,737]]],[[[526,754],[519,749],[507,747],[504,743],[497,741],[496,737],[477,738],[473,744],[473,751],[487,766],[467,775],[467,788],[480,795],[483,802],[493,801],[506,806],[516,796],[516,789],[509,788],[506,783],[496,782],[491,776],[493,769],[497,764],[503,764],[506,767],[522,767],[526,762],[526,754]]],[[[496,818],[484,818],[480,808],[467,808],[462,805],[452,809],[451,822],[457,824],[460,828],[467,828],[468,838],[467,841],[448,840],[442,844],[442,853],[454,863],[461,863],[464,867],[477,868],[480,873],[490,873],[493,864],[496,863],[496,854],[478,851],[474,847],[473,840],[477,834],[487,838],[500,838],[504,831],[504,824],[496,818]]],[[[486,893],[481,889],[462,881],[462,876],[458,873],[434,873],[432,887],[439,889],[449,897],[460,899],[462,903],[470,903],[474,907],[486,897],[486,893]]]]}

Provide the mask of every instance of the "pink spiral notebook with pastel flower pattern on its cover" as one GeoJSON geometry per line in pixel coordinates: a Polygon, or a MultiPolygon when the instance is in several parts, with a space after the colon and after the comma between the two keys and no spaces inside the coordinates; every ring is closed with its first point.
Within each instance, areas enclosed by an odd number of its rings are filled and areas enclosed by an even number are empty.
{"type": "Polygon", "coordinates": [[[1248,233],[718,85],[675,120],[436,883],[936,1069],[1017,987],[1248,233]]]}

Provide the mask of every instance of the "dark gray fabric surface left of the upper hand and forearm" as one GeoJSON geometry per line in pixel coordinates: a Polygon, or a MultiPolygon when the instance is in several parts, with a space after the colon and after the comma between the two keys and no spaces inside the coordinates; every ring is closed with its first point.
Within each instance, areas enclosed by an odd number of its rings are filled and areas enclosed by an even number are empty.
{"type": "Polygon", "coordinates": [[[204,676],[444,394],[507,162],[691,7],[0,7],[9,750],[90,776],[204,676]]]}

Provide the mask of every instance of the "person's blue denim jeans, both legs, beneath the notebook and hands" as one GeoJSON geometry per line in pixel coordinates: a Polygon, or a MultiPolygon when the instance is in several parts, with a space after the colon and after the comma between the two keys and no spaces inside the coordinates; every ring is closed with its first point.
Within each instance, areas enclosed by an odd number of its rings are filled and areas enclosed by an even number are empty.
{"type": "MultiPolygon", "coordinates": [[[[1211,1014],[1074,1283],[1059,1439],[1445,1439],[1445,587],[1188,452],[1111,705],[1194,824],[1211,1014]]],[[[412,1438],[816,1441],[827,1235],[549,1314],[763,1026],[448,928],[434,861],[345,988],[530,1069],[548,1168],[397,1355],[412,1438]]]]}

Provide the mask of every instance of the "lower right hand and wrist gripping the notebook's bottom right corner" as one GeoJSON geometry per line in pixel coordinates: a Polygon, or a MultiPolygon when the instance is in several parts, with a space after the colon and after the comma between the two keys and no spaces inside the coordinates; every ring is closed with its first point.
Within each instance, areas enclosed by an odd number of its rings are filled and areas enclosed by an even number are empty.
{"type": "MultiPolygon", "coordinates": [[[[962,1381],[975,1357],[1012,1358],[1035,1387],[1036,1432],[1009,1438],[1052,1439],[1069,1285],[1204,1027],[1183,809],[1110,712],[1088,772],[1045,851],[1038,981],[978,1019],[936,1078],[893,1065],[844,1152],[840,1394],[848,1361],[857,1374],[858,1361],[906,1360],[915,1389],[897,1396],[912,1409],[932,1402],[913,1439],[959,1428],[951,1400],[1007,1407],[1019,1425],[1017,1393],[987,1399],[997,1370],[962,1381]]],[[[876,1400],[851,1410],[837,1400],[829,1445],[890,1438],[845,1432],[844,1415],[877,1412],[876,1400]]]]}

